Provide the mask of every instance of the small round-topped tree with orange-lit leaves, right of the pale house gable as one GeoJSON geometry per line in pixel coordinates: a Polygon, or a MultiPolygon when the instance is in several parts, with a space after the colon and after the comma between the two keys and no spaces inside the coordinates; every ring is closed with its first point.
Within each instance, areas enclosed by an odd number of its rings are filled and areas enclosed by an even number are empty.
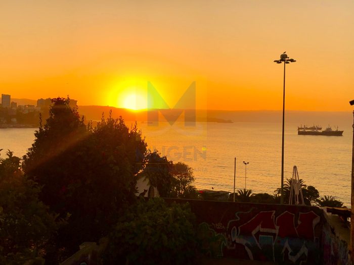
{"type": "Polygon", "coordinates": [[[182,162],[178,162],[171,165],[170,172],[173,177],[171,183],[172,197],[185,199],[198,198],[197,189],[192,185],[195,178],[191,167],[182,162]]]}

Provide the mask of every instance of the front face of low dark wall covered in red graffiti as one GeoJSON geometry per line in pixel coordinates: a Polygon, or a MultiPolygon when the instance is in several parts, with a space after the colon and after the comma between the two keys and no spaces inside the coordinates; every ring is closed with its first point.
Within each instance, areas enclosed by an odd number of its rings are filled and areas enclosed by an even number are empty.
{"type": "MultiPolygon", "coordinates": [[[[177,202],[177,201],[176,201],[177,202]]],[[[322,264],[318,207],[190,200],[198,242],[211,257],[322,264]]]]}

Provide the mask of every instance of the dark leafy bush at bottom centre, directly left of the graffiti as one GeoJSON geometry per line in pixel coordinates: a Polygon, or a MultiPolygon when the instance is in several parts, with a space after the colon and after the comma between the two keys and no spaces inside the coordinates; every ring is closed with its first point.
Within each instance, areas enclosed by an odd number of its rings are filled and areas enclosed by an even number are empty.
{"type": "Polygon", "coordinates": [[[195,256],[194,215],[188,203],[167,206],[143,198],[109,235],[104,264],[189,264],[195,256]]]}

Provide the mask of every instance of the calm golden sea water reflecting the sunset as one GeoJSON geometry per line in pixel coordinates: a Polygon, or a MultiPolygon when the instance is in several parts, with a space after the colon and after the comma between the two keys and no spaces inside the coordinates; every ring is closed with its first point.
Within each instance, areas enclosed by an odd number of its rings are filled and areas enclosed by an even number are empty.
{"type": "MultiPolygon", "coordinates": [[[[129,124],[129,122],[127,122],[129,124]]],[[[194,169],[200,189],[233,191],[234,157],[236,188],[273,194],[281,181],[281,123],[197,123],[158,126],[139,123],[150,149],[157,149],[173,162],[185,162],[194,169]],[[188,124],[187,124],[188,125],[188,124]]],[[[291,178],[293,166],[306,185],[320,195],[332,195],[350,206],[351,146],[350,124],[340,127],[342,137],[297,135],[297,124],[286,124],[284,179],[291,178]]],[[[0,149],[22,156],[34,140],[34,129],[1,129],[0,149]]]]}

